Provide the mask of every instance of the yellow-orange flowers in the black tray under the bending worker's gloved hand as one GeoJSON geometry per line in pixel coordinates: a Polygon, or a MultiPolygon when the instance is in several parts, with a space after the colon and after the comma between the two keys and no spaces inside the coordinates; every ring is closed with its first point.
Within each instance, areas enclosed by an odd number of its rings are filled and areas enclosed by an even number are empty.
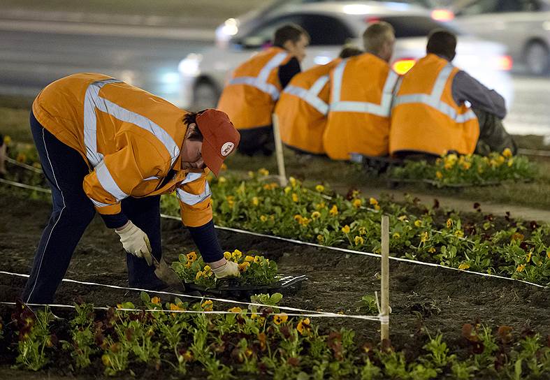
{"type": "MultiPolygon", "coordinates": [[[[224,252],[228,261],[238,263],[240,277],[237,282],[243,285],[270,285],[277,277],[277,264],[263,256],[243,255],[235,249],[233,252],[224,252]]],[[[180,279],[187,283],[193,283],[205,288],[215,288],[218,281],[203,258],[193,251],[188,254],[180,254],[179,261],[172,263],[173,270],[180,279]]]]}

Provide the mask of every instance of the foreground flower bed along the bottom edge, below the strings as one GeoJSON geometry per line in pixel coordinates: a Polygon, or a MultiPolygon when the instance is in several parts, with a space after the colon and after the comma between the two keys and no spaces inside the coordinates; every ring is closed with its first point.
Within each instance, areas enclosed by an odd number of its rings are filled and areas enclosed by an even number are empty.
{"type": "Polygon", "coordinates": [[[146,293],[141,298],[143,309],[136,311],[125,310],[135,309],[131,302],[106,312],[75,305],[68,321],[55,321],[48,309],[35,316],[17,305],[13,323],[0,324],[0,352],[27,370],[62,362],[65,373],[147,378],[542,379],[550,374],[550,347],[531,330],[519,337],[508,326],[465,324],[460,354],[442,335],[426,332],[416,337],[422,349],[407,352],[389,342],[358,342],[345,328],[320,332],[307,316],[279,312],[280,296],[259,295],[256,302],[272,305],[233,307],[229,314],[208,314],[210,300],[163,305],[146,293]]]}

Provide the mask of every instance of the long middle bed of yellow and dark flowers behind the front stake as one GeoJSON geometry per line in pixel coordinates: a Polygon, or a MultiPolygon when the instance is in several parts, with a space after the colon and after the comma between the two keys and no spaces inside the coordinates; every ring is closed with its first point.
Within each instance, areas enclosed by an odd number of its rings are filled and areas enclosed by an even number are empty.
{"type": "MultiPolygon", "coordinates": [[[[398,204],[364,198],[358,191],[340,196],[324,185],[305,187],[294,178],[282,189],[268,174],[259,170],[246,180],[211,180],[216,224],[379,253],[384,213],[389,215],[395,256],[550,284],[549,224],[500,220],[481,212],[465,219],[440,210],[437,203],[426,207],[407,198],[398,204]]],[[[162,207],[178,214],[174,196],[165,196],[162,207]]],[[[479,205],[476,209],[481,211],[479,205]]]]}

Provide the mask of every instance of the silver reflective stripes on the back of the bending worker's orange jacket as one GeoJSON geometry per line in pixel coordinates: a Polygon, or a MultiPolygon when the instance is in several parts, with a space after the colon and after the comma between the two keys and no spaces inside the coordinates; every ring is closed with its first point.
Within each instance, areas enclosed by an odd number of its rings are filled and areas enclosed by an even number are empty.
{"type": "MultiPolygon", "coordinates": [[[[106,112],[108,115],[119,119],[122,122],[128,122],[139,126],[152,133],[160,142],[166,147],[168,154],[171,156],[171,164],[180,156],[180,147],[175,143],[172,136],[168,132],[164,131],[160,126],[152,122],[136,112],[126,110],[126,108],[120,107],[108,101],[106,98],[99,96],[99,90],[101,87],[110,83],[122,83],[122,80],[106,79],[93,82],[86,89],[84,99],[84,145],[86,147],[86,156],[89,162],[94,168],[96,168],[96,175],[101,187],[110,193],[113,197],[120,201],[128,196],[118,187],[113,176],[110,174],[107,166],[103,161],[103,154],[97,151],[97,116],[96,108],[102,112],[106,112]]],[[[147,178],[150,180],[152,178],[147,178]]],[[[91,198],[90,198],[91,199],[91,198]]],[[[108,204],[98,202],[92,199],[94,205],[98,207],[107,206],[108,204]]]]}

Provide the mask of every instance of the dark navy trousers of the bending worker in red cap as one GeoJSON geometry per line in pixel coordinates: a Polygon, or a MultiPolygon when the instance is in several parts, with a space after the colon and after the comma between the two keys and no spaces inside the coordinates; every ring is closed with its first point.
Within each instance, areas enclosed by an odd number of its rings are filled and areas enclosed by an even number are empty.
{"type": "MultiPolygon", "coordinates": [[[[27,303],[51,303],[61,283],[73,251],[88,224],[94,218],[92,202],[82,189],[89,169],[82,156],[44,129],[31,112],[31,132],[38,150],[44,175],[52,189],[52,215],[44,229],[24,287],[22,300],[27,303]]],[[[152,254],[161,257],[160,196],[126,198],[122,211],[151,242],[152,254]]],[[[113,231],[113,234],[115,232],[113,231]]],[[[113,247],[113,255],[125,254],[113,247]]],[[[158,289],[164,284],[154,275],[143,258],[126,254],[129,284],[133,287],[158,289]]]]}

